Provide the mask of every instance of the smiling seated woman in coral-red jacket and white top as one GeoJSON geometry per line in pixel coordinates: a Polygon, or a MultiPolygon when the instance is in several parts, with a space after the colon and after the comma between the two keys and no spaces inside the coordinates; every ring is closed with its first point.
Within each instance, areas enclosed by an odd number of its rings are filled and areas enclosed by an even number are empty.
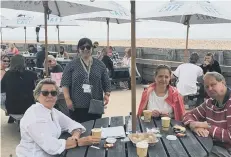
{"type": "Polygon", "coordinates": [[[156,68],[154,83],[142,94],[138,116],[143,110],[151,110],[153,117],[168,116],[182,120],[185,114],[183,99],[175,87],[169,85],[171,69],[166,65],[156,68]]]}

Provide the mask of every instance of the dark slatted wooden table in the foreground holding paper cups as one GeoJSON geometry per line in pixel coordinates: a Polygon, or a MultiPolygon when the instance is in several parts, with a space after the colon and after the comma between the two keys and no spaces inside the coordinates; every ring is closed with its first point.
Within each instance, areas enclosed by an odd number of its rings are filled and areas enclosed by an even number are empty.
{"type": "MultiPolygon", "coordinates": [[[[82,134],[82,137],[91,135],[92,128],[101,127],[115,127],[124,126],[128,123],[128,117],[111,117],[101,118],[96,121],[88,121],[82,123],[86,132],[82,134]],[[124,124],[125,121],[125,124],[124,124]]],[[[171,126],[175,124],[181,124],[175,120],[171,121],[171,126]]],[[[143,122],[143,120],[137,118],[137,131],[146,132],[147,128],[154,127],[161,128],[161,120],[153,119],[151,122],[143,122]]],[[[177,138],[175,141],[169,141],[166,139],[166,135],[174,134],[170,128],[168,132],[161,132],[162,137],[159,142],[154,146],[150,146],[148,149],[149,157],[206,157],[211,151],[213,141],[210,137],[203,138],[196,136],[190,130],[186,131],[187,136],[177,138]]],[[[60,138],[66,139],[70,135],[64,133],[60,138]]],[[[137,157],[136,147],[131,142],[124,142],[122,139],[117,139],[113,148],[103,148],[105,140],[101,140],[99,145],[95,145],[100,149],[92,148],[91,146],[76,147],[69,149],[61,156],[65,157],[137,157]]]]}

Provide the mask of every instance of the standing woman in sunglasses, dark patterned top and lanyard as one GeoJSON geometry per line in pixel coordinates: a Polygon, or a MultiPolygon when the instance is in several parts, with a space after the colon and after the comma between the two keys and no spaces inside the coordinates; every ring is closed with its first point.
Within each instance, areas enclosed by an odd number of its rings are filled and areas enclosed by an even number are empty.
{"type": "Polygon", "coordinates": [[[62,75],[64,98],[68,108],[74,110],[71,118],[77,122],[102,117],[102,114],[89,113],[91,100],[98,100],[104,105],[109,102],[111,92],[109,75],[103,62],[92,57],[92,48],[90,39],[80,39],[77,45],[80,58],[73,59],[65,67],[62,75]]]}

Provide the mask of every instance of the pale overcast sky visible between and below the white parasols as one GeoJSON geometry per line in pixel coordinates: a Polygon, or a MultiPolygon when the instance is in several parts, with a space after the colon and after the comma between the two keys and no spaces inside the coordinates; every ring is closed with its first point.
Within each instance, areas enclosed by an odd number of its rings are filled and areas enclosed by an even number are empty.
{"type": "MultiPolygon", "coordinates": [[[[96,0],[97,1],[97,0],[96,0]]],[[[116,1],[128,10],[130,10],[130,2],[116,1]]],[[[166,1],[165,1],[166,2],[166,1]]],[[[150,10],[158,8],[164,3],[163,1],[137,1],[137,16],[149,14],[150,10]]],[[[212,1],[217,8],[224,10],[231,15],[231,1],[212,1]]],[[[24,11],[15,11],[1,9],[1,15],[7,18],[13,18],[19,13],[27,13],[24,11]]],[[[34,15],[42,15],[40,13],[31,13],[34,15]]],[[[106,23],[99,22],[81,22],[78,27],[61,27],[61,40],[77,41],[82,37],[89,37],[94,40],[106,40],[107,27],[106,23]]],[[[137,38],[181,38],[185,39],[186,27],[181,24],[169,22],[139,22],[137,23],[137,38]]],[[[214,24],[214,25],[195,25],[190,27],[190,39],[217,39],[231,40],[231,24],[214,24]]],[[[23,28],[3,29],[3,38],[5,40],[24,40],[23,28]]],[[[35,28],[27,28],[28,40],[35,40],[35,28]]],[[[40,38],[44,38],[44,30],[40,31],[40,38]]],[[[57,40],[57,30],[55,27],[48,28],[48,38],[57,40]]],[[[130,24],[111,24],[110,39],[130,39],[130,24]]]]}

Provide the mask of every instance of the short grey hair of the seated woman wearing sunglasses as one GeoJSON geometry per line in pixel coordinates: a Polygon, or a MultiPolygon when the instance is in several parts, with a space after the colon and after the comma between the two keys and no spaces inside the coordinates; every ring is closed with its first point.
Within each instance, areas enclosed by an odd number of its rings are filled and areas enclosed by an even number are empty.
{"type": "Polygon", "coordinates": [[[43,85],[46,85],[46,84],[54,85],[54,86],[55,86],[55,89],[56,89],[56,91],[57,91],[57,93],[58,93],[58,95],[60,94],[60,92],[59,92],[59,87],[56,85],[56,82],[53,81],[53,80],[50,79],[50,78],[46,78],[46,79],[41,80],[41,81],[37,84],[37,86],[35,87],[35,89],[34,89],[34,98],[35,98],[35,100],[38,100],[38,97],[39,97],[39,94],[40,94],[40,92],[41,92],[41,89],[42,89],[43,85]]]}

